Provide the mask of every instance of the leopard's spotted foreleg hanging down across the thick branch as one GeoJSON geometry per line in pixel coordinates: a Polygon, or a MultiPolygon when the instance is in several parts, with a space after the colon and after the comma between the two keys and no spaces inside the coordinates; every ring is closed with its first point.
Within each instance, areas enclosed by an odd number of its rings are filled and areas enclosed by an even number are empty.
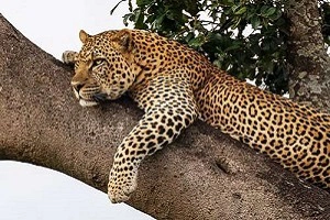
{"type": "Polygon", "coordinates": [[[170,143],[197,118],[188,84],[170,75],[153,79],[134,99],[146,113],[114,155],[108,185],[112,202],[128,200],[136,188],[138,168],[143,158],[170,143]]]}

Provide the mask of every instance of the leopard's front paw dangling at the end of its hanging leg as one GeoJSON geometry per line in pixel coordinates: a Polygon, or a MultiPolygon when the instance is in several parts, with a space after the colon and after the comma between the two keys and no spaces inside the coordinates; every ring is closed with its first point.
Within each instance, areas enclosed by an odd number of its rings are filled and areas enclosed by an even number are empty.
{"type": "Polygon", "coordinates": [[[138,170],[112,168],[108,184],[108,197],[112,204],[123,202],[130,199],[130,195],[138,186],[138,170]]]}

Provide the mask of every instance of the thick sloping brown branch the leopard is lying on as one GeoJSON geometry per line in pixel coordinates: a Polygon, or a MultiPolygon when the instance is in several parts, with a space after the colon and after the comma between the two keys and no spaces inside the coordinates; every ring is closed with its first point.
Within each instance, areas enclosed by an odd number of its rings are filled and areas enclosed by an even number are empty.
{"type": "MultiPolygon", "coordinates": [[[[79,107],[72,70],[1,14],[0,48],[0,160],[53,168],[106,193],[116,146],[142,112],[130,99],[79,107]]],[[[128,204],[157,219],[330,219],[329,193],[201,122],[142,164],[128,204]]]]}

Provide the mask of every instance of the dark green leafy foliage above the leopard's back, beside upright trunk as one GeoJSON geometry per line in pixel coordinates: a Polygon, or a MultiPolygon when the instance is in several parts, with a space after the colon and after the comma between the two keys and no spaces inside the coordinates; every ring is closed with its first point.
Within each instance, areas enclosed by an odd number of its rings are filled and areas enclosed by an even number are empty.
{"type": "MultiPolygon", "coordinates": [[[[125,0],[122,0],[125,1],[125,0]]],[[[241,79],[288,89],[287,23],[280,0],[136,0],[124,24],[177,40],[241,79]]]]}

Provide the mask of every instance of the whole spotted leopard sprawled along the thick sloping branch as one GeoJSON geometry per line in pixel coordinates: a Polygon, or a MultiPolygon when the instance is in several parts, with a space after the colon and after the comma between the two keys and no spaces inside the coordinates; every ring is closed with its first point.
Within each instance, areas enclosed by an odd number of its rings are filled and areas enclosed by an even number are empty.
{"type": "Polygon", "coordinates": [[[123,95],[144,114],[118,146],[109,175],[111,202],[138,187],[142,161],[196,120],[265,153],[298,178],[330,188],[330,114],[262,90],[221,70],[201,53],[142,30],[79,32],[72,87],[82,107],[123,95]]]}

